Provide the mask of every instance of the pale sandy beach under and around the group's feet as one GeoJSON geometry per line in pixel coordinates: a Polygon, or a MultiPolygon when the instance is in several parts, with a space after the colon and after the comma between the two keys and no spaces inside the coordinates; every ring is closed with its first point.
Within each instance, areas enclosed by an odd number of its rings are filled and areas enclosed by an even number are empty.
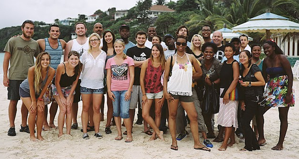
{"type": "MultiPolygon", "coordinates": [[[[2,81],[2,80],[1,80],[2,81]]],[[[117,136],[115,126],[111,126],[112,134],[106,135],[104,132],[105,121],[100,123],[100,133],[103,139],[97,139],[94,132],[89,132],[89,140],[82,139],[81,111],[82,102],[79,102],[77,130],[71,130],[70,135],[57,137],[58,130],[43,131],[42,135],[45,141],[32,142],[29,134],[19,132],[21,124],[21,101],[18,103],[18,110],[15,119],[16,136],[7,136],[9,129],[7,89],[1,84],[0,86],[0,159],[298,159],[299,154],[299,81],[294,80],[293,88],[295,89],[296,106],[289,110],[289,127],[284,142],[283,151],[271,150],[278,142],[279,138],[279,116],[278,109],[270,109],[265,115],[264,132],[267,145],[262,146],[261,150],[253,152],[240,152],[244,143],[239,142],[236,137],[236,144],[228,147],[225,152],[218,151],[221,143],[212,142],[214,148],[211,152],[199,151],[193,149],[193,138],[190,126],[187,131],[190,132],[186,138],[178,141],[178,151],[170,149],[171,136],[169,130],[164,134],[165,141],[159,139],[149,140],[149,135],[142,133],[143,125],[137,125],[134,122],[133,142],[125,143],[125,140],[114,140],[117,136]]],[[[107,107],[105,105],[104,112],[107,107]]],[[[59,111],[59,110],[58,110],[59,111]]],[[[137,117],[137,116],[135,116],[137,117]]],[[[48,118],[50,118],[48,116],[48,118]]],[[[217,115],[215,116],[217,120],[217,115]]],[[[135,118],[136,120],[136,118],[135,118]]],[[[49,121],[49,119],[48,119],[49,121]]],[[[54,120],[57,126],[57,115],[54,120]]],[[[215,124],[216,125],[216,124],[215,124]]],[[[217,128],[216,128],[217,129],[217,128]]],[[[122,127],[125,131],[125,127],[122,127]]],[[[64,127],[64,132],[66,129],[64,127]]],[[[218,134],[217,131],[215,131],[218,134]]],[[[126,136],[123,135],[125,138],[126,136]]],[[[212,141],[211,139],[210,141],[212,141]]],[[[202,142],[200,138],[200,142],[202,142]]]]}

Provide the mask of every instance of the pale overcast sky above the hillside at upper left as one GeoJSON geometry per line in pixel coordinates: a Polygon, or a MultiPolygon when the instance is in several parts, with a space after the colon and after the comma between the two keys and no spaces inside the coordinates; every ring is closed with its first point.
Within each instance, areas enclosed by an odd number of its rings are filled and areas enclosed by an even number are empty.
{"type": "Polygon", "coordinates": [[[0,29],[20,26],[27,19],[53,23],[56,18],[61,20],[67,17],[77,18],[78,14],[92,15],[98,9],[130,9],[136,5],[136,1],[138,0],[1,0],[0,29]]]}

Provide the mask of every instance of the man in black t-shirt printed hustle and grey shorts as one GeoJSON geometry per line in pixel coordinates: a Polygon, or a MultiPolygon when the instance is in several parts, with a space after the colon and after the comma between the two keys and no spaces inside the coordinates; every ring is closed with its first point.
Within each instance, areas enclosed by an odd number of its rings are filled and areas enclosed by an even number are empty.
{"type": "MultiPolygon", "coordinates": [[[[139,31],[136,33],[135,40],[137,42],[137,45],[134,47],[131,47],[127,51],[127,55],[132,57],[134,60],[135,65],[135,75],[134,75],[134,84],[132,88],[132,95],[131,95],[131,101],[130,101],[130,119],[133,125],[134,121],[134,115],[135,115],[135,109],[138,105],[138,119],[137,124],[142,124],[142,91],[140,87],[140,72],[141,72],[141,66],[143,62],[149,58],[151,54],[151,49],[145,46],[145,42],[147,40],[147,33],[143,31],[139,31]]],[[[148,123],[144,121],[144,132],[148,135],[151,135],[152,132],[149,131],[148,123]]]]}

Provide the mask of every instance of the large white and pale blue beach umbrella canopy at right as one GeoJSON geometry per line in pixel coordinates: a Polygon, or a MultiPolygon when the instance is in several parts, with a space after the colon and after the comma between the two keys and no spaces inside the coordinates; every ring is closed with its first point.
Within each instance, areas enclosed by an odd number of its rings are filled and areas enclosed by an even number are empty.
{"type": "Polygon", "coordinates": [[[266,39],[269,39],[271,33],[299,32],[299,24],[290,21],[289,18],[267,12],[249,19],[246,23],[233,27],[232,30],[234,33],[266,33],[266,39]]]}

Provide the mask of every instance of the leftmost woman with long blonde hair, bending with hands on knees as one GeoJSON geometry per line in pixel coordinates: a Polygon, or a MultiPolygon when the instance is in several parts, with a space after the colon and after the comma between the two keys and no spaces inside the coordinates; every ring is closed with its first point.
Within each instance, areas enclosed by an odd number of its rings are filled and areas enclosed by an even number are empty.
{"type": "Polygon", "coordinates": [[[43,96],[55,74],[55,70],[49,64],[49,53],[41,52],[37,56],[35,65],[29,68],[28,78],[20,84],[20,96],[29,112],[28,126],[32,141],[44,140],[42,137],[45,110],[43,96]],[[37,137],[34,134],[35,123],[37,137]]]}

